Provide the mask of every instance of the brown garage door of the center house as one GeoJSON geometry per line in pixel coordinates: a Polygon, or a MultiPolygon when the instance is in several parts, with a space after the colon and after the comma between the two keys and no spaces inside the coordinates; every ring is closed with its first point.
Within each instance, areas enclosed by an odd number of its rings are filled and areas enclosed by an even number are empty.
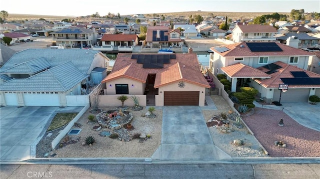
{"type": "Polygon", "coordinates": [[[198,91],[164,91],[164,106],[198,106],[198,91]]]}

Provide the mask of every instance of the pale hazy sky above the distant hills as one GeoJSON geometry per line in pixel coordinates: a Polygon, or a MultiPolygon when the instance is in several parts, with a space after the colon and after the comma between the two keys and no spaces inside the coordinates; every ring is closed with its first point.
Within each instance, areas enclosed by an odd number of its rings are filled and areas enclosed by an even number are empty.
{"type": "Polygon", "coordinates": [[[320,0],[1,0],[0,10],[19,14],[85,16],[98,12],[153,14],[183,11],[320,12],[320,0]]]}

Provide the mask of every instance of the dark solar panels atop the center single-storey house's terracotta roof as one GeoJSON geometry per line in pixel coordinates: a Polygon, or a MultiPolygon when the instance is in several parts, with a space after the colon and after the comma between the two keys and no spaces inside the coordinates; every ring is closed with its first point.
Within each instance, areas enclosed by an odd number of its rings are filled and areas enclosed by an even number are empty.
{"type": "Polygon", "coordinates": [[[132,54],[131,59],[136,59],[136,63],[143,64],[143,68],[163,68],[163,64],[170,63],[170,59],[175,59],[175,54],[132,54]]]}

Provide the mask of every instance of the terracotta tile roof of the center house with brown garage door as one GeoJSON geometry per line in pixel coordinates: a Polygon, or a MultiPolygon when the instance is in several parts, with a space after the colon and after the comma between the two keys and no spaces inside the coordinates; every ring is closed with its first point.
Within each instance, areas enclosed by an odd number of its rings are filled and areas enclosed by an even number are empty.
{"type": "MultiPolygon", "coordinates": [[[[139,55],[140,54],[141,53],[139,53],[139,55]]],[[[163,55],[155,53],[142,53],[142,55],[143,54],[163,55]]],[[[176,58],[170,59],[170,63],[168,64],[163,64],[163,68],[142,68],[142,64],[136,63],[136,59],[131,59],[131,56],[132,54],[130,53],[118,53],[111,73],[107,75],[101,83],[121,77],[145,83],[148,74],[156,74],[154,86],[165,85],[178,80],[180,77],[180,79],[189,83],[207,88],[210,87],[200,71],[196,53],[175,54],[176,58]],[[176,71],[178,67],[180,71],[176,71]]]]}

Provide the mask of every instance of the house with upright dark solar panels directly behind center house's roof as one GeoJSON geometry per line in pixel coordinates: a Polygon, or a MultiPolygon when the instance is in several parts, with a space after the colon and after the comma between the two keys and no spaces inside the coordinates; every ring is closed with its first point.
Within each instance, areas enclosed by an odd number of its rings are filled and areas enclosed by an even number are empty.
{"type": "Polygon", "coordinates": [[[147,46],[168,47],[181,45],[178,29],[170,29],[167,26],[149,26],[146,32],[145,42],[147,46]]]}

